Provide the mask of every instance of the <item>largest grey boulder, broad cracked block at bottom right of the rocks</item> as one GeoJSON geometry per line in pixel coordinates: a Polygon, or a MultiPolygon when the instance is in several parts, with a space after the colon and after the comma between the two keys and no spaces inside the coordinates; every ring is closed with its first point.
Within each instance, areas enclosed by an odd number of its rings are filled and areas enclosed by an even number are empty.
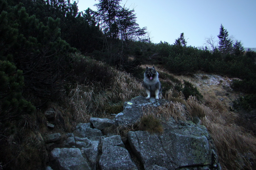
{"type": "Polygon", "coordinates": [[[212,148],[204,126],[165,125],[161,135],[147,131],[128,132],[133,152],[143,163],[144,169],[176,169],[181,167],[208,166],[212,164],[212,148]]]}

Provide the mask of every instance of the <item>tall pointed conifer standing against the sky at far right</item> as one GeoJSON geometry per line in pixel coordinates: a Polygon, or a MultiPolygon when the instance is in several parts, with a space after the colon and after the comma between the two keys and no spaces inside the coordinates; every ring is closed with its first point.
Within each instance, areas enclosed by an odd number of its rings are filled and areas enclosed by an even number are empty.
{"type": "Polygon", "coordinates": [[[232,51],[232,41],[228,37],[228,31],[224,29],[223,25],[220,25],[220,33],[218,35],[219,46],[218,50],[223,54],[229,54],[232,51]]]}

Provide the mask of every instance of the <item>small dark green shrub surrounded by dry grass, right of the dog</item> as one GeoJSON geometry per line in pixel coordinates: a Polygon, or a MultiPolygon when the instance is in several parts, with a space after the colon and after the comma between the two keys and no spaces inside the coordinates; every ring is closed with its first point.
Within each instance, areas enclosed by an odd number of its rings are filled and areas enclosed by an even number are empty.
{"type": "Polygon", "coordinates": [[[190,82],[184,81],[184,87],[182,88],[182,93],[186,99],[189,98],[190,95],[195,96],[198,100],[203,99],[203,95],[194,87],[190,82]]]}

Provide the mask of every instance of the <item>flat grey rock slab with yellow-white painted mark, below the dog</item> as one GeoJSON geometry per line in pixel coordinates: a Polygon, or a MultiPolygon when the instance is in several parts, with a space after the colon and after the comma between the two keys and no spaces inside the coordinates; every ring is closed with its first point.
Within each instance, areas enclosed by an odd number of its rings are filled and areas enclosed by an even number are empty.
{"type": "Polygon", "coordinates": [[[131,101],[124,103],[123,112],[115,116],[115,124],[118,126],[134,124],[143,115],[142,107],[147,105],[157,107],[166,102],[164,99],[156,100],[153,97],[150,99],[143,96],[134,97],[131,101]]]}

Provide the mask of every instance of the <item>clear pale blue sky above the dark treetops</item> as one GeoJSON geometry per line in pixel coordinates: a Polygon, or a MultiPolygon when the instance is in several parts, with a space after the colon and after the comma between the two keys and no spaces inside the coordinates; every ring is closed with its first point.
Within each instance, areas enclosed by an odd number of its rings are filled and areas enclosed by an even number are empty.
{"type": "MultiPolygon", "coordinates": [[[[79,0],[79,11],[91,8],[98,0],[79,0]]],[[[203,46],[205,37],[218,40],[220,24],[228,34],[256,48],[256,0],[123,0],[127,8],[135,8],[137,23],[147,27],[151,40],[173,44],[184,32],[187,45],[203,46]]]]}

